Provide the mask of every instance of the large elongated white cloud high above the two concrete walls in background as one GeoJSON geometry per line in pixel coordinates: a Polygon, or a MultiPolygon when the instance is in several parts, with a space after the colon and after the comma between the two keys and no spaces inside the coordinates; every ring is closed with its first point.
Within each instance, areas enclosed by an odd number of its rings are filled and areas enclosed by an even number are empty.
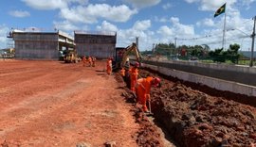
{"type": "Polygon", "coordinates": [[[136,13],[137,10],[130,9],[125,5],[112,7],[107,4],[96,4],[87,7],[63,8],[60,16],[73,23],[94,24],[98,22],[98,19],[126,22],[136,13]]]}

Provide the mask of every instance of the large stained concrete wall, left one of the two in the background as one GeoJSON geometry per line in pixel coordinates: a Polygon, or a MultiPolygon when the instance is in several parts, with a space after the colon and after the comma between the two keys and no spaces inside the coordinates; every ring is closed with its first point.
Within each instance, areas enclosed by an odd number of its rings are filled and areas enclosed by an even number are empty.
{"type": "Polygon", "coordinates": [[[15,57],[59,59],[58,33],[13,33],[15,57]]]}

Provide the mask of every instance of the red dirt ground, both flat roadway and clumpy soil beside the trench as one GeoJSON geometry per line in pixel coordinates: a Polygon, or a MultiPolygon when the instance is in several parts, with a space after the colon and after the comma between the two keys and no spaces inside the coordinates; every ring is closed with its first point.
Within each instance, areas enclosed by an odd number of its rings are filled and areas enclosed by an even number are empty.
{"type": "MultiPolygon", "coordinates": [[[[103,72],[105,61],[82,67],[59,61],[0,60],[0,67],[4,147],[101,147],[106,142],[118,147],[174,146],[142,117],[119,73],[103,72]]],[[[172,77],[162,78],[162,84],[151,92],[155,122],[180,146],[255,146],[255,97],[172,77]]]]}

